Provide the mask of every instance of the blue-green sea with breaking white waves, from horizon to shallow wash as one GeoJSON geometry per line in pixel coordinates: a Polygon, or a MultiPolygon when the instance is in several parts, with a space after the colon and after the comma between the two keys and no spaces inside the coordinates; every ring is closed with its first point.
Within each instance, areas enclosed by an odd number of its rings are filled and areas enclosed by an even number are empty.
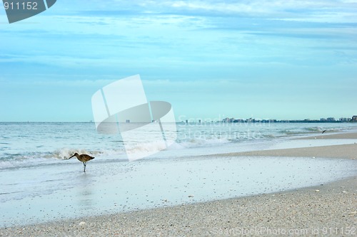
{"type": "MultiPolygon", "coordinates": [[[[177,123],[176,127],[176,143],[166,149],[166,157],[225,153],[235,149],[234,144],[313,135],[323,130],[328,133],[357,129],[356,123],[177,123]]],[[[134,152],[159,151],[161,147],[156,146],[149,143],[134,152]]],[[[0,169],[59,162],[74,152],[103,159],[126,159],[121,136],[101,135],[93,123],[0,122],[0,169]]]]}

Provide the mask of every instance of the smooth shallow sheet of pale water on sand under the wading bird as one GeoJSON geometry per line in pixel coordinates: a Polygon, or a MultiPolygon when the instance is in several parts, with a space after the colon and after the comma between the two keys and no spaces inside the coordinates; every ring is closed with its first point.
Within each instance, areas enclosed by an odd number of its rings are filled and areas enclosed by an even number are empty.
{"type": "Polygon", "coordinates": [[[0,173],[2,226],[227,199],[355,175],[346,159],[186,157],[93,160],[0,173]],[[49,179],[51,177],[51,179],[49,179]]]}

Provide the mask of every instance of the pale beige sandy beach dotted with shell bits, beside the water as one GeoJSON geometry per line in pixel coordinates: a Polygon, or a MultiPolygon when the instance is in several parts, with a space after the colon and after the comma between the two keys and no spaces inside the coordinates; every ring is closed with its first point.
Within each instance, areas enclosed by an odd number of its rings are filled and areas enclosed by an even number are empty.
{"type": "MultiPolygon", "coordinates": [[[[356,134],[347,138],[351,136],[356,134]]],[[[323,135],[323,139],[343,138],[323,135]]],[[[357,144],[226,156],[328,157],[357,162],[357,144]]],[[[356,236],[356,228],[355,175],[271,194],[1,228],[0,236],[356,236]]]]}

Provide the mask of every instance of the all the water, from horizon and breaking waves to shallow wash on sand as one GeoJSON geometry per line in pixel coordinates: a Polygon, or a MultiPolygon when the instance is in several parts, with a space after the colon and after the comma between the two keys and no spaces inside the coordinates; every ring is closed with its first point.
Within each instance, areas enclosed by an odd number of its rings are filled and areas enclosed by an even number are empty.
{"type": "Polygon", "coordinates": [[[156,138],[149,129],[144,131],[145,145],[138,139],[126,141],[136,146],[130,152],[151,153],[129,162],[121,135],[101,135],[91,122],[0,122],[0,223],[10,226],[226,199],[356,174],[356,165],[341,159],[221,155],[353,144],[354,139],[292,138],[323,130],[356,132],[356,123],[176,123],[176,128],[176,142],[166,149],[152,141],[156,138]],[[74,152],[96,157],[88,162],[86,173],[81,162],[68,159],[74,152]]]}

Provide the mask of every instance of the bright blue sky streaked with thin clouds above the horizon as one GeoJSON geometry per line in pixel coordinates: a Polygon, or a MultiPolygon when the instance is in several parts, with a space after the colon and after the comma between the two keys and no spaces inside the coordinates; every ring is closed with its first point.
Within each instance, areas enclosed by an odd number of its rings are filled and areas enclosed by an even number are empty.
{"type": "Polygon", "coordinates": [[[0,6],[0,122],[88,122],[139,74],[176,120],[357,114],[357,0],[69,1],[0,6]]]}

